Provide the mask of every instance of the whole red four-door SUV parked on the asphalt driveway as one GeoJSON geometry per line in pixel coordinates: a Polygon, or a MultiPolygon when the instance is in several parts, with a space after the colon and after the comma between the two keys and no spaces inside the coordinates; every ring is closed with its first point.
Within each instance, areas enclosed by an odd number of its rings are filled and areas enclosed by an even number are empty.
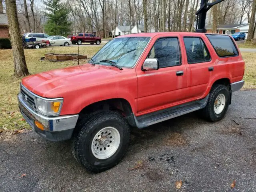
{"type": "Polygon", "coordinates": [[[244,61],[228,35],[162,32],[114,38],[88,63],[25,77],[20,112],[52,141],[72,139],[93,172],[124,156],[130,126],[146,128],[195,110],[221,120],[242,88],[244,61]]]}

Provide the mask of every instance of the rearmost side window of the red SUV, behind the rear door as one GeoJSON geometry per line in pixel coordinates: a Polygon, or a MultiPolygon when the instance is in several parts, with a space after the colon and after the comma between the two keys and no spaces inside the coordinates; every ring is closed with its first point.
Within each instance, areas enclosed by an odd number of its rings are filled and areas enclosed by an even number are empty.
{"type": "Polygon", "coordinates": [[[238,56],[238,50],[234,42],[226,35],[206,35],[213,48],[220,57],[238,56]]]}

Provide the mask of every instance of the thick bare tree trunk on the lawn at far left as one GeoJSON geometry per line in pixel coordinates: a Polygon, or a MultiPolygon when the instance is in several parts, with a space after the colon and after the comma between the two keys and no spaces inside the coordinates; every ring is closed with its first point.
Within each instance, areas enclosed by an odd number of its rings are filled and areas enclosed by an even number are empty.
{"type": "Polygon", "coordinates": [[[12,52],[14,61],[14,75],[28,75],[24,50],[22,47],[22,38],[20,35],[20,26],[18,22],[17,7],[15,0],[6,0],[6,13],[9,22],[9,33],[12,42],[12,52]]]}

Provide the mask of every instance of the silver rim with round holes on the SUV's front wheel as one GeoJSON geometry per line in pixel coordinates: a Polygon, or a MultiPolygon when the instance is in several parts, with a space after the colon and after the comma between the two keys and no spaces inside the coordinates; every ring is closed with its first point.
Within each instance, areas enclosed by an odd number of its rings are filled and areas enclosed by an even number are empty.
{"type": "Polygon", "coordinates": [[[116,152],[119,145],[119,131],[114,127],[105,127],[92,140],[92,154],[98,159],[107,159],[116,152]]]}

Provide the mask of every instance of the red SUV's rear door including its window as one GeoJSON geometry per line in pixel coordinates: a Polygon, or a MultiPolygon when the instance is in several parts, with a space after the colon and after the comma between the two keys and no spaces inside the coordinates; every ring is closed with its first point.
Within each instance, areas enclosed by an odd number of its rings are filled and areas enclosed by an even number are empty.
{"type": "Polygon", "coordinates": [[[196,100],[204,95],[210,79],[214,76],[214,60],[207,48],[206,37],[183,36],[188,82],[185,102],[196,100]]]}

